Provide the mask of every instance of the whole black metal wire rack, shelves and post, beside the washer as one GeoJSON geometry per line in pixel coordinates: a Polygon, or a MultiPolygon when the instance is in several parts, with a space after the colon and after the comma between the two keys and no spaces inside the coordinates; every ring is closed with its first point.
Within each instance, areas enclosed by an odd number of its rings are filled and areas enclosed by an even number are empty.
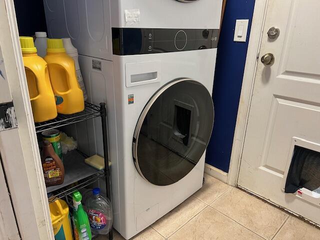
{"type": "MultiPolygon", "coordinates": [[[[84,159],[87,157],[83,153],[73,150],[63,156],[64,165],[64,182],[60,185],[49,186],[46,188],[47,193],[52,193],[49,197],[49,203],[61,197],[67,197],[73,191],[83,188],[93,182],[96,182],[100,177],[105,178],[106,197],[112,201],[111,184],[110,184],[110,168],[108,161],[108,147],[107,147],[107,112],[104,102],[100,102],[99,106],[89,102],[84,102],[84,110],[74,114],[58,114],[52,120],[34,123],[35,132],[39,133],[45,130],[74,124],[80,121],[85,121],[94,117],[101,117],[102,125],[102,142],[103,142],[103,157],[104,169],[96,170],[95,168],[86,165],[84,159]]],[[[109,239],[112,239],[112,230],[108,233],[109,239]]]]}

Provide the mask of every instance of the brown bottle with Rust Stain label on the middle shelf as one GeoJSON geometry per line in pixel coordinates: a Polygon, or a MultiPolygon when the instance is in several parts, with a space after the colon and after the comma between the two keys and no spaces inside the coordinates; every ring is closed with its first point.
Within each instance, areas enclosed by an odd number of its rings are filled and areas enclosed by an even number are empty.
{"type": "Polygon", "coordinates": [[[60,157],[54,152],[50,142],[43,142],[41,157],[44,182],[46,186],[59,185],[64,180],[64,166],[60,157]]]}

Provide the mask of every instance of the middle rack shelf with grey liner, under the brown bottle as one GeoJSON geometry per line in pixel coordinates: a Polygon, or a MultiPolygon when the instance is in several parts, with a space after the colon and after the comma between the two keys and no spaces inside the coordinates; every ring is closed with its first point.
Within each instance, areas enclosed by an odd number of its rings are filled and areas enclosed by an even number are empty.
{"type": "Polygon", "coordinates": [[[86,157],[78,150],[72,150],[63,155],[64,181],[60,185],[46,187],[46,192],[52,193],[49,202],[92,184],[104,176],[104,170],[97,170],[84,163],[86,157]]]}

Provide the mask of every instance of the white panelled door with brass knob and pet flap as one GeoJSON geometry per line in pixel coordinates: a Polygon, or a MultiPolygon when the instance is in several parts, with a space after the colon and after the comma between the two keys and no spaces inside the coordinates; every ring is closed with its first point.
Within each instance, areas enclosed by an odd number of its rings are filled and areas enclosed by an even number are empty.
{"type": "Polygon", "coordinates": [[[284,193],[283,184],[294,145],[320,151],[319,22],[319,0],[268,0],[238,178],[318,224],[320,205],[284,193]],[[272,26],[280,31],[275,39],[267,34],[272,26]],[[262,64],[266,53],[273,64],[262,64]]]}

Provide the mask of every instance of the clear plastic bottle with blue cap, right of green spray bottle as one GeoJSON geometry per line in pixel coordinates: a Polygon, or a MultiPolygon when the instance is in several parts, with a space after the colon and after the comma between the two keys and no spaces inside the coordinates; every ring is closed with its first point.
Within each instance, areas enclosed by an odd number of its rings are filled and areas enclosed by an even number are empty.
{"type": "Polygon", "coordinates": [[[100,195],[100,188],[93,188],[85,205],[92,234],[107,234],[112,226],[112,206],[100,195]]]}

